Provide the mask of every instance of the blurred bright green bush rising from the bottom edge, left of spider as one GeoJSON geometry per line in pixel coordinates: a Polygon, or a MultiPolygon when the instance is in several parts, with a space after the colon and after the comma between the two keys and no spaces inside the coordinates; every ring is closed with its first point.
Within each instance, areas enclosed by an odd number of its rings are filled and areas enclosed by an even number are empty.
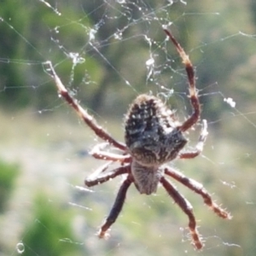
{"type": "Polygon", "coordinates": [[[29,221],[21,236],[24,245],[22,255],[35,255],[36,252],[38,255],[71,256],[82,253],[81,247],[74,242],[72,212],[67,207],[49,201],[45,193],[35,196],[33,207],[34,221],[29,221]]]}

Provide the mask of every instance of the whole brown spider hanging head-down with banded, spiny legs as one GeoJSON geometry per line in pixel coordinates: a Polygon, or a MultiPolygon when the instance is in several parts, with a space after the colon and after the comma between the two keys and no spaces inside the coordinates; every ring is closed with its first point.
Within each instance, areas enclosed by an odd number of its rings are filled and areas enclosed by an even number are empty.
{"type": "Polygon", "coordinates": [[[212,201],[211,195],[201,183],[194,179],[186,177],[183,173],[172,169],[166,163],[174,159],[192,159],[201,154],[204,143],[207,139],[207,121],[202,120],[201,134],[199,141],[192,151],[182,150],[188,140],[183,133],[195,125],[201,117],[201,105],[199,102],[197,90],[195,88],[194,67],[189,61],[189,56],[185,53],[181,45],[172,36],[172,33],[164,28],[167,38],[172,41],[177,53],[180,55],[189,80],[189,99],[193,108],[193,113],[182,124],[175,118],[174,112],[166,107],[166,104],[156,96],[146,94],[139,95],[131,103],[128,112],[125,115],[125,143],[116,141],[108,131],[104,130],[96,123],[94,119],[79,102],[73,98],[61,83],[61,79],[55,73],[55,69],[50,61],[50,75],[55,80],[59,94],[72,106],[79,114],[84,123],[96,133],[105,143],[97,144],[90,154],[99,160],[108,160],[108,163],[99,167],[90,177],[85,179],[85,185],[88,187],[105,183],[113,177],[125,174],[125,180],[120,185],[118,195],[109,212],[108,218],[102,224],[98,232],[100,238],[107,238],[110,226],[115,222],[121,212],[125,202],[126,192],[134,183],[138,192],[151,195],[156,192],[160,183],[172,197],[173,201],[182,209],[189,218],[189,231],[191,241],[196,249],[203,247],[203,241],[198,233],[193,213],[193,207],[176,187],[166,179],[166,175],[174,178],[177,182],[201,195],[205,204],[212,209],[221,218],[231,218],[230,213],[226,212],[212,201]],[[111,146],[118,149],[121,153],[112,153],[104,151],[104,148],[111,146]],[[120,166],[113,170],[108,167],[113,162],[119,162],[120,166]],[[107,172],[106,172],[107,171],[107,172]]]}

